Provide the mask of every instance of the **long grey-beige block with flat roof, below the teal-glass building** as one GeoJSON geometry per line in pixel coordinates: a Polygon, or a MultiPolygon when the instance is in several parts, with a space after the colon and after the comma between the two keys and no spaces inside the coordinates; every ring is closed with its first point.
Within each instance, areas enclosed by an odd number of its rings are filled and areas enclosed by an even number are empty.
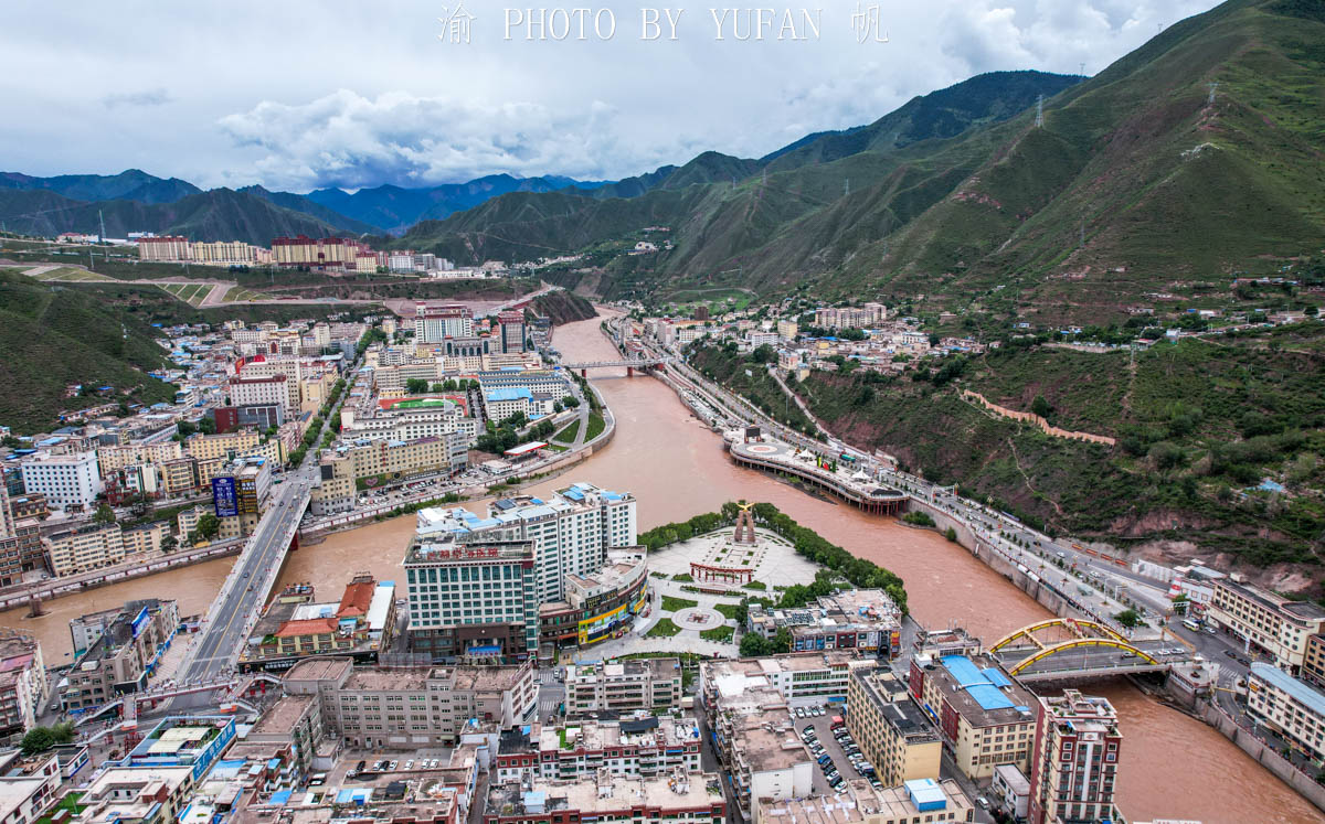
{"type": "Polygon", "coordinates": [[[531,662],[386,669],[315,657],[282,682],[288,695],[315,695],[327,731],[355,748],[453,745],[472,721],[509,730],[538,703],[531,662]]]}

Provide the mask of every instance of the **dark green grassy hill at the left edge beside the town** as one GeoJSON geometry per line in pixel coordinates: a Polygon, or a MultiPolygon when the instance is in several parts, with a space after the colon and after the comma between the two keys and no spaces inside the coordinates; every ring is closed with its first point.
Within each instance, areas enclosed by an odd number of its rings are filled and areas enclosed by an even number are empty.
{"type": "Polygon", "coordinates": [[[143,374],[168,364],[154,340],[155,330],[85,289],[38,283],[0,269],[0,384],[5,387],[0,423],[19,433],[49,429],[60,409],[175,397],[175,387],[143,374]],[[115,391],[106,397],[65,397],[69,384],[113,386],[115,391]]]}

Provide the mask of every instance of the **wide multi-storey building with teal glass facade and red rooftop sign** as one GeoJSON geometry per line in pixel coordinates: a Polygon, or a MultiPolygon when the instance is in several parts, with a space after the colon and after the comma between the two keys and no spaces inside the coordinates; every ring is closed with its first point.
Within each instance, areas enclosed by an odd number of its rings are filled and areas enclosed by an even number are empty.
{"type": "Polygon", "coordinates": [[[409,648],[439,657],[531,656],[538,590],[531,541],[416,535],[405,550],[409,648]]]}

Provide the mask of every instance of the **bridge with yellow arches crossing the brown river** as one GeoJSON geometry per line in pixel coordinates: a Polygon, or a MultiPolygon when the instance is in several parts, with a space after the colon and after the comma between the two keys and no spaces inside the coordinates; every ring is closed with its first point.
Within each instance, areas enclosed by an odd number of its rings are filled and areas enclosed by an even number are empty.
{"type": "Polygon", "coordinates": [[[1167,672],[1191,660],[1175,640],[1129,639],[1100,621],[1059,617],[1010,632],[988,648],[1022,681],[1076,681],[1167,672]]]}

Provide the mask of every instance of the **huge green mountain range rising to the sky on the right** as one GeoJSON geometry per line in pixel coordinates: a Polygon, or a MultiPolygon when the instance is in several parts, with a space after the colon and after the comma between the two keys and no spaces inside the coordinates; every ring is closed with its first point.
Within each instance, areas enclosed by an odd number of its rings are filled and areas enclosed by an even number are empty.
{"type": "Polygon", "coordinates": [[[509,260],[665,224],[676,248],[617,258],[600,291],[808,283],[822,297],[925,294],[957,307],[1003,286],[988,302],[1000,311],[1117,318],[1174,280],[1224,280],[1321,248],[1318,9],[1232,0],[1085,82],[973,78],[774,152],[735,185],[652,188],[608,208],[566,192],[498,197],[405,242],[509,260]],[[1052,97],[1036,127],[1041,93],[1052,97]]]}

